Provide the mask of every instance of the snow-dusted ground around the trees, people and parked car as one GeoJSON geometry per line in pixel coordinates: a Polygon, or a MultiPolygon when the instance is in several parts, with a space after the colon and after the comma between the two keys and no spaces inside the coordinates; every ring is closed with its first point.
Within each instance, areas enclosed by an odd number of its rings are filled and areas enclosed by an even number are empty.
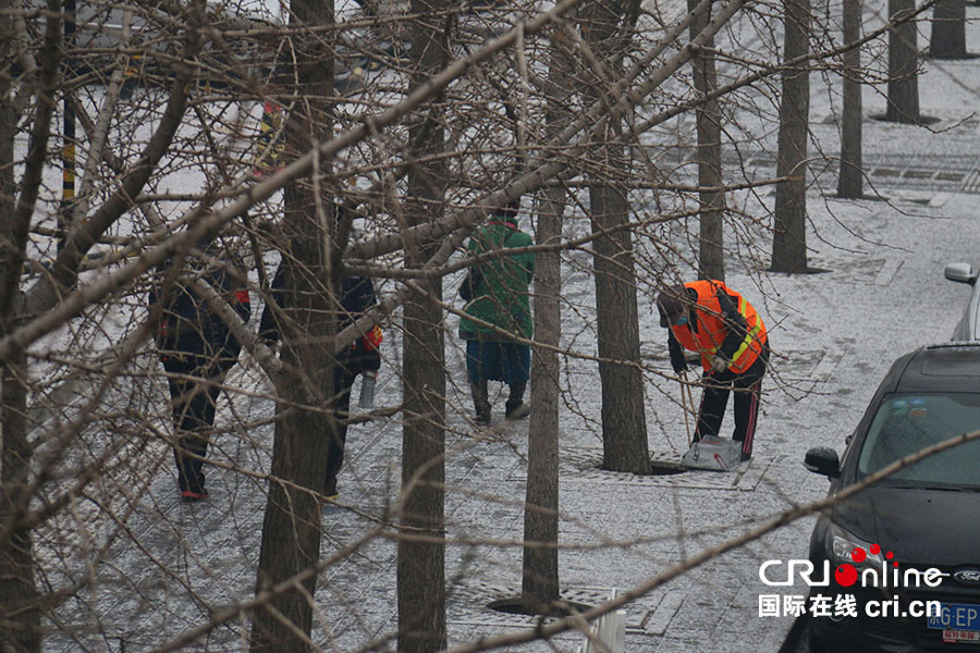
{"type": "MultiPolygon", "coordinates": [[[[980,9],[969,7],[968,15],[972,21],[968,45],[978,50],[980,9]]],[[[725,475],[690,471],[647,478],[599,470],[598,371],[583,358],[564,360],[560,572],[568,599],[597,604],[614,589],[636,587],[782,510],[821,498],[826,482],[804,469],[805,452],[817,445],[841,449],[891,362],[917,346],[950,338],[968,291],[945,281],[943,267],[980,258],[976,212],[980,60],[924,61],[923,69],[922,112],[940,119],[930,130],[871,120],[884,111],[884,99],[880,90],[865,93],[868,186],[873,183],[884,200],[822,197],[821,190],[832,194],[835,176],[832,171],[814,175],[808,198],[808,245],[811,266],[825,272],[769,273],[764,270],[765,230],[728,226],[732,251],[726,282],[759,309],[774,354],[772,373],[763,382],[756,457],[748,465],[725,475]]],[[[813,75],[813,146],[833,156],[838,151],[833,120],[840,106],[837,94],[824,90],[822,82],[822,75],[813,75]]],[[[773,159],[767,152],[774,150],[774,128],[760,128],[769,141],[759,141],[750,163],[760,176],[773,176],[773,159]]],[[[762,215],[756,202],[770,205],[772,193],[762,190],[730,201],[762,215]]],[[[690,256],[690,244],[678,237],[683,226],[665,227],[663,233],[673,235],[682,254],[690,256]]],[[[688,226],[695,227],[694,223],[688,226]]],[[[569,221],[568,229],[578,233],[584,225],[569,221]]],[[[638,238],[638,251],[649,247],[638,238]]],[[[589,325],[592,281],[587,268],[576,268],[576,262],[587,266],[588,259],[571,255],[565,267],[563,344],[590,354],[595,346],[589,325]]],[[[658,264],[662,269],[664,263],[658,264]]],[[[689,270],[679,273],[693,279],[689,270]]],[[[654,280],[641,284],[649,444],[656,458],[676,459],[687,447],[679,386],[663,375],[670,366],[665,333],[650,301],[654,280]]],[[[455,283],[446,288],[446,300],[454,301],[455,283]]],[[[474,431],[466,418],[470,403],[463,352],[454,336],[455,318],[448,320],[446,329],[452,374],[446,465],[452,645],[530,627],[534,620],[487,607],[520,588],[527,423],[505,423],[504,397],[498,396],[492,429],[474,431]]],[[[377,404],[393,406],[401,401],[396,329],[387,330],[383,354],[377,404]]],[[[56,525],[59,530],[49,533],[51,538],[72,533],[78,542],[77,558],[100,562],[71,577],[87,587],[57,612],[57,625],[49,624],[46,651],[149,650],[253,596],[266,501],[261,475],[269,469],[272,441],[271,386],[247,360],[232,372],[228,384],[236,392],[230,401],[222,399],[218,419],[218,427],[228,432],[212,439],[210,452],[216,461],[208,472],[211,498],[185,505],[177,502],[172,454],[164,442],[166,387],[147,371],[151,362],[137,366],[124,383],[110,390],[110,398],[132,402],[136,396],[145,402],[130,406],[131,414],[135,410],[144,418],[122,420],[119,432],[148,434],[138,445],[144,447],[138,457],[119,452],[119,459],[139,459],[143,467],[112,475],[118,484],[107,493],[117,501],[113,518],[107,518],[105,506],[97,512],[82,502],[56,525]],[[113,531],[119,537],[108,541],[107,533],[113,531]],[[96,556],[93,547],[102,544],[108,553],[96,556]]],[[[731,423],[730,414],[725,429],[731,423]]],[[[91,455],[113,444],[100,440],[101,433],[90,435],[91,455]]],[[[123,440],[125,446],[136,446],[133,439],[123,440]]],[[[323,559],[377,526],[397,492],[400,458],[401,428],[395,419],[352,427],[340,479],[341,503],[346,508],[324,512],[323,559]]],[[[805,557],[811,526],[812,518],[791,523],[630,603],[626,649],[777,651],[793,621],[758,616],[759,594],[771,593],[759,580],[759,565],[770,558],[805,557]]],[[[37,545],[42,556],[50,551],[44,539],[37,545]]],[[[392,540],[366,539],[320,575],[317,603],[322,620],[315,621],[317,642],[353,651],[393,634],[394,555],[392,540]]],[[[56,574],[57,567],[51,565],[49,580],[63,583],[68,577],[56,574]]],[[[76,568],[70,560],[64,567],[76,568]]],[[[194,649],[243,650],[247,634],[247,619],[233,619],[194,649]]],[[[525,649],[572,651],[580,639],[566,634],[525,649]]]]}

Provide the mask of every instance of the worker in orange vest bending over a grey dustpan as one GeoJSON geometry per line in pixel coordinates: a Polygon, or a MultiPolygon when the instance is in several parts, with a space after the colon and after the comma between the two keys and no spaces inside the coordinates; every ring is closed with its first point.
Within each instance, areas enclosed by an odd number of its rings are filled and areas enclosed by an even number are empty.
{"type": "Polygon", "coordinates": [[[730,390],[735,391],[733,440],[742,459],[752,456],[769,336],[762,317],[724,282],[707,279],[665,288],[657,297],[660,325],[667,330],[674,371],[687,369],[684,349],[700,354],[705,391],[694,440],[718,436],[730,390]]]}

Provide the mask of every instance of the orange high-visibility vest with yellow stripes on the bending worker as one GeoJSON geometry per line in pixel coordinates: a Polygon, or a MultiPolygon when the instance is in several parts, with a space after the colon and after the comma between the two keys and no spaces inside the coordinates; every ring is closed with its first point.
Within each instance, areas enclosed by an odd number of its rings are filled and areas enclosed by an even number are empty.
{"type": "Polygon", "coordinates": [[[725,342],[725,336],[728,334],[728,329],[721,318],[721,304],[716,296],[718,292],[725,293],[736,300],[735,305],[738,312],[745,318],[747,331],[745,341],[732,357],[732,365],[728,369],[736,374],[747,370],[759,358],[762,345],[765,344],[765,325],[762,324],[762,318],[759,317],[752,305],[745,300],[745,297],[721,281],[713,279],[693,281],[684,285],[698,294],[698,305],[695,311],[698,331],[693,333],[690,324],[673,325],[671,329],[674,337],[684,348],[698,352],[701,355],[701,367],[706,372],[710,371],[714,353],[725,342]]]}

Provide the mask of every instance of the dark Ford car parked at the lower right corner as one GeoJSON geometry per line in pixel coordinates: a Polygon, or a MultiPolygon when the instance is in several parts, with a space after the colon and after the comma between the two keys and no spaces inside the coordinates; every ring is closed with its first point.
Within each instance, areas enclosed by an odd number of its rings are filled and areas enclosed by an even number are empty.
{"type": "MultiPolygon", "coordinates": [[[[806,466],[830,495],[905,456],[980,429],[980,343],[896,360],[847,440],[806,466]]],[[[980,441],[927,457],[828,508],[810,539],[811,651],[980,651],[980,441]],[[853,597],[853,600],[850,599],[853,597]],[[955,643],[954,643],[955,642],[955,643]]]]}

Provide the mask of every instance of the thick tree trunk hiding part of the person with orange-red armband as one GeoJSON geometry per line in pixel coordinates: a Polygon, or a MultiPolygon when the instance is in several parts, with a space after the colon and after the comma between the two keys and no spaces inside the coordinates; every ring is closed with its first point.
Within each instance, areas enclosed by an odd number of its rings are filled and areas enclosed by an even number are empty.
{"type": "MultiPolygon", "coordinates": [[[[329,25],[333,3],[294,0],[297,25],[329,25]]],[[[328,99],[332,94],[333,60],[321,35],[298,35],[296,94],[302,101],[287,118],[286,144],[292,153],[306,151],[314,140],[330,136],[328,99]]],[[[314,171],[322,174],[323,171],[314,171]]],[[[282,359],[285,377],[278,384],[272,480],[262,521],[256,593],[301,571],[315,568],[320,554],[319,495],[327,475],[327,447],[335,417],[324,418],[322,406],[333,396],[333,338],[339,297],[330,257],[336,255],[334,212],[318,213],[309,180],[286,186],[283,234],[289,243],[283,287],[282,359]],[[324,243],[330,244],[329,248],[324,243]]],[[[329,202],[329,204],[328,204],[329,202]]],[[[302,589],[285,592],[259,607],[252,621],[253,651],[309,650],[317,575],[302,589]]]]}

